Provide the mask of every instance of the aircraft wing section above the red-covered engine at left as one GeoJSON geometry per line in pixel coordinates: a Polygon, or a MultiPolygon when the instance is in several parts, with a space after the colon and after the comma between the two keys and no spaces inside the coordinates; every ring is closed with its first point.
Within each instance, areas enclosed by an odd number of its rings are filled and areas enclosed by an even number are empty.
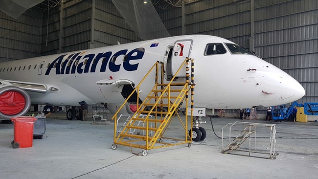
{"type": "Polygon", "coordinates": [[[0,85],[4,86],[15,86],[21,88],[25,91],[30,92],[39,92],[39,93],[46,93],[47,86],[45,84],[40,83],[30,83],[30,82],[22,82],[22,81],[11,81],[11,80],[1,80],[0,85]]]}

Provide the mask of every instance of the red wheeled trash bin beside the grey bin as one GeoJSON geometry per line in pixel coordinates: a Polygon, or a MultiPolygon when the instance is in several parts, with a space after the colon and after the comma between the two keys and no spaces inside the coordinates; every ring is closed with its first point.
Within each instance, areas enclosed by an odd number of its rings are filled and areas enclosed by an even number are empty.
{"type": "Polygon", "coordinates": [[[14,140],[11,145],[14,149],[32,147],[33,144],[33,125],[35,117],[21,116],[11,117],[14,123],[14,140]]]}

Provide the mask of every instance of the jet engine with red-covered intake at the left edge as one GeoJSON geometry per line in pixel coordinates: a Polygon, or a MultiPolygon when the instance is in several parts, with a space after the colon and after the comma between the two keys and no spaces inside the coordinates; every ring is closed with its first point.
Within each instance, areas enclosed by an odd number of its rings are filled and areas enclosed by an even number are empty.
{"type": "Polygon", "coordinates": [[[10,120],[11,117],[24,115],[30,106],[30,96],[23,89],[14,86],[0,88],[0,119],[10,120]]]}

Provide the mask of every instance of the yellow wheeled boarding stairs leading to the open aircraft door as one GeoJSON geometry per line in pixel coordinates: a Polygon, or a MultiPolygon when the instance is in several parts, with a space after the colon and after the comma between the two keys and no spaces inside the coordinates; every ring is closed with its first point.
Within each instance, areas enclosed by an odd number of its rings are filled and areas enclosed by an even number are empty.
{"type": "MultiPolygon", "coordinates": [[[[117,148],[117,144],[144,149],[142,151],[142,156],[148,154],[148,150],[154,148],[162,148],[174,145],[180,145],[188,143],[188,147],[191,147],[192,136],[189,136],[188,130],[191,130],[192,134],[192,122],[188,122],[188,116],[185,115],[185,121],[182,121],[178,114],[183,101],[185,100],[185,106],[188,106],[188,92],[191,89],[191,119],[193,112],[193,94],[194,94],[194,66],[193,59],[186,58],[182,63],[181,67],[176,72],[176,75],[182,71],[185,65],[185,82],[175,82],[174,78],[171,79],[170,83],[163,83],[163,63],[156,62],[145,77],[136,86],[133,92],[127,97],[123,105],[114,114],[114,144],[112,149],[117,148]],[[191,82],[189,82],[189,62],[191,62],[191,82]],[[156,70],[155,85],[153,89],[149,92],[146,99],[143,100],[142,104],[139,104],[139,88],[140,84],[151,74],[153,70],[156,70]],[[120,117],[118,112],[127,104],[129,98],[136,91],[137,93],[137,111],[132,117],[126,121],[119,131],[117,131],[117,122],[120,117]],[[151,109],[149,108],[152,107],[151,109]],[[148,111],[149,110],[149,111],[148,111]],[[180,123],[184,129],[182,130],[181,136],[184,138],[171,138],[164,137],[164,133],[168,129],[172,119],[177,115],[180,123]],[[118,118],[117,118],[118,117],[118,118]],[[142,123],[142,125],[140,124],[142,123]],[[190,125],[190,126],[188,126],[190,125]],[[137,134],[132,133],[132,131],[138,130],[137,134]],[[142,133],[140,132],[142,131],[142,133]],[[163,139],[166,141],[164,142],[163,139]]],[[[187,108],[186,108],[187,110],[187,108]]],[[[186,111],[187,113],[187,111],[186,111]]]]}

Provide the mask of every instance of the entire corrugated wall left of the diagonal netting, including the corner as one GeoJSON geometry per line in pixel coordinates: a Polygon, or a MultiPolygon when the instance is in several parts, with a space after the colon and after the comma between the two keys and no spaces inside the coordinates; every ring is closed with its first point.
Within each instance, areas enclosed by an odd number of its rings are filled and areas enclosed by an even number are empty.
{"type": "Polygon", "coordinates": [[[0,11],[0,62],[136,41],[111,0],[67,0],[17,20],[0,11]]]}

